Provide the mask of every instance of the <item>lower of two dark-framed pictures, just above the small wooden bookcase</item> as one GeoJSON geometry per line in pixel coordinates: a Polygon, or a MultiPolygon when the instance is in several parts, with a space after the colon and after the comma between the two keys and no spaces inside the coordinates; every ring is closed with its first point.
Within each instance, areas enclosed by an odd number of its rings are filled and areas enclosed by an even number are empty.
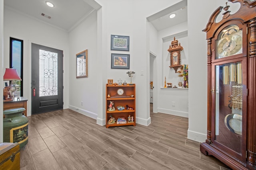
{"type": "Polygon", "coordinates": [[[129,69],[129,54],[111,54],[111,68],[129,69]]]}

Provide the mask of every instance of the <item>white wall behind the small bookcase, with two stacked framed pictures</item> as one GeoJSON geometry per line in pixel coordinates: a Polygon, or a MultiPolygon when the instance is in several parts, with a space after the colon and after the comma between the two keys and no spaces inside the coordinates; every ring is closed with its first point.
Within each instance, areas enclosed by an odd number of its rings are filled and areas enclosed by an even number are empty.
{"type": "MultiPolygon", "coordinates": [[[[162,0],[161,3],[155,0],[96,0],[102,6],[102,53],[106,57],[106,77],[102,77],[104,84],[107,79],[114,79],[117,82],[119,78],[130,81],[126,72],[128,70],[111,69],[111,53],[130,54],[130,69],[135,71],[132,82],[136,83],[136,122],[142,125],[150,123],[150,104],[149,104],[149,52],[147,20],[148,16],[163,10],[179,2],[162,0]],[[146,7],[145,7],[146,4],[146,7]],[[110,35],[128,35],[130,36],[130,51],[111,51],[110,50],[110,35]],[[104,39],[106,37],[106,39],[104,39]],[[143,72],[143,75],[141,73],[143,72]]],[[[105,95],[105,86],[102,87],[105,95]]],[[[103,98],[105,96],[102,96],[103,98]]],[[[103,102],[102,102],[103,103],[103,102]]],[[[103,103],[105,106],[105,103],[103,103]]],[[[102,115],[105,119],[105,111],[102,110],[102,115]]]]}

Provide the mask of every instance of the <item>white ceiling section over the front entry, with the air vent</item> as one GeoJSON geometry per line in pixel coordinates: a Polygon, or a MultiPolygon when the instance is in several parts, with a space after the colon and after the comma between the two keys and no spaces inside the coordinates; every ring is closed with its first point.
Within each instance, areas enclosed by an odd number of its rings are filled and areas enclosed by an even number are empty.
{"type": "Polygon", "coordinates": [[[4,0],[4,7],[66,31],[72,30],[94,11],[84,0],[48,1],[54,4],[53,8],[46,5],[46,0],[4,0]]]}

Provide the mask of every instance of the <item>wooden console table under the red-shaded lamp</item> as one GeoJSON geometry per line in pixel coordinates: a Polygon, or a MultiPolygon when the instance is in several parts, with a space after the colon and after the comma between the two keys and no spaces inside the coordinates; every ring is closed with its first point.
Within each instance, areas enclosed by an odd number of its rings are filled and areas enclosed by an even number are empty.
{"type": "Polygon", "coordinates": [[[4,102],[3,107],[4,110],[23,107],[26,109],[24,110],[24,115],[27,116],[27,101],[24,97],[20,97],[20,100],[18,100],[18,97],[15,97],[12,101],[4,102]]]}

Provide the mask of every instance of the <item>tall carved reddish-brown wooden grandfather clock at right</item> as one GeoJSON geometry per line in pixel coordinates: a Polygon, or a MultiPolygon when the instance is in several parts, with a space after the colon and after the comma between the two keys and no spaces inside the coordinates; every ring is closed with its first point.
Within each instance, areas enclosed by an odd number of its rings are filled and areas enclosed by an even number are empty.
{"type": "Polygon", "coordinates": [[[232,169],[256,169],[256,0],[230,14],[220,6],[206,28],[207,139],[200,145],[232,169]],[[223,9],[223,10],[222,10],[223,9]],[[222,20],[216,17],[222,12],[222,20]]]}

